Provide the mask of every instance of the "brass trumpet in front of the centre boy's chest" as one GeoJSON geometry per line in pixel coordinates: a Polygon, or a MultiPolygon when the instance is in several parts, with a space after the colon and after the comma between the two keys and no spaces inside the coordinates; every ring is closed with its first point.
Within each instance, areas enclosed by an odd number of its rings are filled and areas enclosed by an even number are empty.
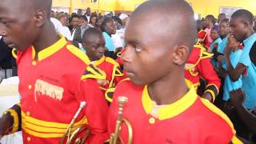
{"type": "Polygon", "coordinates": [[[126,97],[118,97],[119,108],[118,108],[118,119],[115,125],[114,133],[110,135],[110,144],[118,144],[124,142],[122,138],[119,137],[119,133],[121,130],[122,123],[125,122],[128,127],[128,144],[131,144],[133,141],[133,129],[130,122],[126,118],[122,118],[123,107],[126,102],[128,102],[128,98],[126,97]]]}

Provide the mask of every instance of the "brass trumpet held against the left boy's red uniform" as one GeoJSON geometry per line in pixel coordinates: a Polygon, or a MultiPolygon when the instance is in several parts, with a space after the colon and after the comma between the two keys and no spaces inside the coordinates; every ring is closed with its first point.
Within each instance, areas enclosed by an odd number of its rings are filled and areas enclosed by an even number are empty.
{"type": "Polygon", "coordinates": [[[76,130],[74,130],[73,133],[71,133],[71,128],[74,126],[74,122],[76,121],[76,119],[78,118],[78,115],[81,113],[81,110],[86,106],[86,102],[80,102],[80,106],[78,111],[74,114],[74,117],[72,118],[70,125],[67,127],[65,134],[62,136],[61,141],[59,142],[59,144],[63,144],[64,140],[67,137],[66,140],[66,144],[70,144],[75,143],[75,144],[82,144],[86,141],[86,138],[88,138],[89,134],[90,134],[90,130],[87,129],[87,126],[80,126],[78,127],[76,130]],[[86,130],[87,129],[87,130],[86,130]],[[82,130],[86,130],[86,133],[84,134],[83,138],[76,138],[77,135],[82,131],[82,130]],[[76,138],[74,140],[74,138],[76,138]],[[73,142],[74,141],[74,142],[73,142]]]}

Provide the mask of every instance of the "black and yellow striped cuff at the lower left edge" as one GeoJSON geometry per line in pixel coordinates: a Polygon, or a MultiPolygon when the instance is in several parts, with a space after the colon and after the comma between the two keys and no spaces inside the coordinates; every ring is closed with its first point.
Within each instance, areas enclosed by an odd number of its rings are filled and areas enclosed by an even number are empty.
{"type": "Polygon", "coordinates": [[[19,130],[22,130],[21,104],[17,103],[16,105],[12,106],[10,109],[6,110],[3,114],[8,114],[8,113],[14,120],[10,134],[13,134],[19,130]]]}

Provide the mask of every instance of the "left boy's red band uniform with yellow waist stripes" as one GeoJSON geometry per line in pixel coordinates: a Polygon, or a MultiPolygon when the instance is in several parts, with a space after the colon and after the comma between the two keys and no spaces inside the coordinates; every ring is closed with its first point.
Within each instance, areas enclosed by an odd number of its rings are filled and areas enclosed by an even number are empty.
{"type": "Polygon", "coordinates": [[[86,102],[71,133],[87,125],[90,136],[86,143],[102,143],[108,138],[108,106],[96,80],[105,79],[106,74],[90,65],[77,47],[62,37],[40,51],[38,58],[33,46],[18,52],[17,63],[22,99],[6,110],[14,118],[11,133],[22,130],[24,143],[58,143],[80,102],[86,102]]]}

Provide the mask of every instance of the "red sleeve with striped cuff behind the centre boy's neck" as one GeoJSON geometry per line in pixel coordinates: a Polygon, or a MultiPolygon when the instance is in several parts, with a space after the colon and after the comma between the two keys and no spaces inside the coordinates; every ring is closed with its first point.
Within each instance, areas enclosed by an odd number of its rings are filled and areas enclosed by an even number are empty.
{"type": "Polygon", "coordinates": [[[211,54],[207,52],[202,52],[202,59],[197,66],[200,76],[207,83],[205,93],[210,93],[214,102],[216,96],[218,95],[221,81],[218,78],[218,74],[216,74],[216,72],[214,71],[214,67],[210,62],[210,56],[211,54]]]}

